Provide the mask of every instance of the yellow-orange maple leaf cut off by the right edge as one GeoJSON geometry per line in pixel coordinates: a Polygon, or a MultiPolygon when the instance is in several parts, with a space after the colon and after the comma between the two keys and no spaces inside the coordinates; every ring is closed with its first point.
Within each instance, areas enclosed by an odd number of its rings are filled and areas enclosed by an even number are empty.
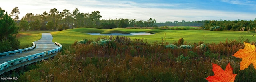
{"type": "Polygon", "coordinates": [[[242,58],[242,61],[240,62],[240,70],[248,68],[251,63],[256,69],[256,50],[254,44],[251,45],[250,43],[244,42],[244,49],[239,49],[233,56],[242,58]]]}

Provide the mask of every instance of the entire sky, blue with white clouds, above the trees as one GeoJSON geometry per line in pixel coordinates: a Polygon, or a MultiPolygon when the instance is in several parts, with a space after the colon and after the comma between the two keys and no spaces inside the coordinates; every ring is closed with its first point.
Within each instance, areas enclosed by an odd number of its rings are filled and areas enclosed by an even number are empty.
{"type": "Polygon", "coordinates": [[[56,8],[59,12],[100,11],[101,19],[156,19],[166,21],[254,20],[256,0],[0,0],[8,14],[18,7],[21,19],[27,13],[42,14],[56,8]]]}

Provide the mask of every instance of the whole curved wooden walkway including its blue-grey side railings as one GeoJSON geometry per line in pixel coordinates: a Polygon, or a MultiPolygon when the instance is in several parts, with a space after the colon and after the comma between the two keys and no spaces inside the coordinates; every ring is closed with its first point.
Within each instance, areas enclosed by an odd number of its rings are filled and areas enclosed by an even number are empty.
{"type": "Polygon", "coordinates": [[[52,39],[53,37],[50,33],[42,33],[41,39],[34,42],[36,45],[34,49],[26,52],[22,51],[21,53],[14,53],[14,54],[0,57],[0,75],[4,72],[10,71],[10,70],[6,70],[8,68],[11,68],[13,70],[14,68],[23,66],[23,64],[26,65],[26,64],[34,63],[42,59],[47,59],[49,57],[52,57],[54,56],[53,54],[56,55],[56,53],[61,50],[62,46],[56,42],[53,43],[52,39]],[[31,55],[34,55],[34,56],[31,56],[31,55]],[[19,60],[15,61],[17,59],[19,60]]]}

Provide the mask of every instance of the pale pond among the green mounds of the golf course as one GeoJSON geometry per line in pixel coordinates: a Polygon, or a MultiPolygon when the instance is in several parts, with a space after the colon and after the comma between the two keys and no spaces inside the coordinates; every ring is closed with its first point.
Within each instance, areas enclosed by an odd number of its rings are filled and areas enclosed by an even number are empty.
{"type": "Polygon", "coordinates": [[[100,34],[100,33],[86,33],[89,35],[124,35],[124,36],[131,36],[131,35],[153,35],[151,33],[146,32],[138,32],[138,33],[130,33],[130,34],[123,34],[123,33],[110,33],[110,34],[100,34]]]}

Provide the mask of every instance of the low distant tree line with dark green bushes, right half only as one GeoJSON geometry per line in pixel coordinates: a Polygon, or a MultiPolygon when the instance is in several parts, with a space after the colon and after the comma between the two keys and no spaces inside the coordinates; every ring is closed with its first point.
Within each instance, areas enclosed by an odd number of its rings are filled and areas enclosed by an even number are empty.
{"type": "Polygon", "coordinates": [[[167,21],[165,23],[156,23],[157,26],[198,26],[204,27],[204,29],[210,31],[222,31],[222,30],[233,30],[233,31],[247,31],[256,30],[256,19],[254,20],[202,20],[202,21],[167,21]]]}

